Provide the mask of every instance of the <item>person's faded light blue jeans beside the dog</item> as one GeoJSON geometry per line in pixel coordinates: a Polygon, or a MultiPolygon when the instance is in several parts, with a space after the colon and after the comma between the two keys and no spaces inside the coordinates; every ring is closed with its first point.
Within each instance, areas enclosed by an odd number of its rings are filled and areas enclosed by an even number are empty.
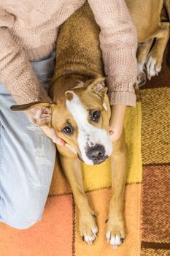
{"type": "MultiPolygon", "coordinates": [[[[54,59],[52,53],[31,63],[46,89],[54,59]]],[[[15,104],[0,84],[0,222],[26,229],[42,217],[56,151],[52,140],[30,123],[26,113],[10,110],[15,104]]]]}

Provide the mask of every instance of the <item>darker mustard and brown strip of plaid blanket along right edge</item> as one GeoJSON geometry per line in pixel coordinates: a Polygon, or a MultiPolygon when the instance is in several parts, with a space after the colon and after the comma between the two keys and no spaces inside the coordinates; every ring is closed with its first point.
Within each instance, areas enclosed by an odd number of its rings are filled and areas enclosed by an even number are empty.
{"type": "MultiPolygon", "coordinates": [[[[169,45],[169,44],[168,44],[169,45]]],[[[158,77],[142,87],[142,256],[170,255],[169,48],[158,77]]]]}

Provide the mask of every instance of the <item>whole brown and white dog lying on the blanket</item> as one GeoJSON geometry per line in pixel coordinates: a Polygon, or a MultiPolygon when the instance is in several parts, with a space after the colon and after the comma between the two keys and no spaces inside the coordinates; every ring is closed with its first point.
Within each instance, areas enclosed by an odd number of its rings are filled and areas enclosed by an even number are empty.
{"type": "MultiPolygon", "coordinates": [[[[153,75],[153,70],[160,70],[167,41],[167,38],[161,36],[168,31],[166,27],[169,27],[169,24],[160,25],[161,3],[163,1],[127,1],[139,32],[139,69],[144,72],[144,65],[147,63],[149,76],[153,75]],[[139,14],[141,10],[144,10],[142,15],[139,14]],[[157,36],[155,48],[160,46],[156,52],[152,48],[150,56],[147,56],[152,38],[157,36]]],[[[12,110],[34,110],[35,124],[54,127],[57,135],[74,148],[76,154],[69,148],[57,146],[79,212],[80,235],[88,244],[95,240],[98,227],[83,189],[80,160],[88,165],[96,165],[111,157],[112,197],[106,236],[112,246],[117,246],[125,238],[123,203],[127,169],[126,146],[124,132],[113,145],[109,138],[110,106],[104,85],[99,31],[93,12],[88,3],[85,3],[61,26],[56,48],[55,74],[49,91],[53,103],[33,102],[12,106],[12,110]],[[37,111],[41,113],[38,117],[37,111]]],[[[168,37],[168,32],[164,34],[168,37]]]]}

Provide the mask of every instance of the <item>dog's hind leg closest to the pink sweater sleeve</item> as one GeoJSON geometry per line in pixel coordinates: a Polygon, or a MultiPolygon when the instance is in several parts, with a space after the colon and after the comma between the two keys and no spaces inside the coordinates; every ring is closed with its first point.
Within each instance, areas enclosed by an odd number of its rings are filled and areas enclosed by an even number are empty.
{"type": "Polygon", "coordinates": [[[146,42],[141,42],[138,45],[138,51],[137,51],[137,61],[138,61],[137,84],[138,86],[143,86],[144,83],[146,83],[147,81],[144,70],[145,70],[145,62],[147,60],[147,55],[150,52],[152,41],[153,39],[148,39],[146,42]]]}

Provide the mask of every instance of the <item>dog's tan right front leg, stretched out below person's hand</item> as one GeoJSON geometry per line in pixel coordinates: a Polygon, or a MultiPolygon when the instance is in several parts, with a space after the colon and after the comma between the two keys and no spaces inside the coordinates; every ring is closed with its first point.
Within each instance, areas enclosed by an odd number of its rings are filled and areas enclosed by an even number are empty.
{"type": "Polygon", "coordinates": [[[125,238],[125,224],[123,219],[125,178],[127,169],[127,157],[125,135],[113,145],[111,157],[112,170],[112,196],[109,203],[109,216],[107,221],[107,241],[117,247],[125,238]]]}

